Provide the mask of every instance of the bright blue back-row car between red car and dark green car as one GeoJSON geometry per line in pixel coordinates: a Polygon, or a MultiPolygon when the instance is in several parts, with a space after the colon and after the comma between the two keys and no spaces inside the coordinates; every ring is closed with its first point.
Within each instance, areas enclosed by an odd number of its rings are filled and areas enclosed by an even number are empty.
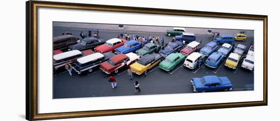
{"type": "Polygon", "coordinates": [[[127,54],[141,49],[141,44],[138,41],[128,41],[123,46],[116,48],[115,52],[120,54],[127,54]]]}

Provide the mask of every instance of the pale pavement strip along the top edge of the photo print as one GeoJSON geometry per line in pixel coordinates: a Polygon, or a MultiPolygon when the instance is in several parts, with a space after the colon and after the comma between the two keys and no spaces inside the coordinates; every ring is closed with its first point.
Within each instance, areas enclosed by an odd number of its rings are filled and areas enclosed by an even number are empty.
{"type": "MultiPolygon", "coordinates": [[[[104,31],[122,31],[122,32],[153,32],[153,33],[165,33],[166,29],[172,27],[162,27],[162,26],[137,26],[137,25],[124,25],[124,29],[119,29],[118,25],[114,24],[91,24],[91,23],[68,23],[68,22],[53,22],[53,27],[66,27],[66,28],[96,28],[98,30],[104,31]]],[[[187,32],[192,32],[198,35],[209,35],[207,34],[208,28],[189,28],[185,27],[187,32]]],[[[220,32],[220,34],[235,34],[239,33],[241,30],[237,29],[212,29],[212,32],[220,32]]],[[[247,31],[248,37],[254,37],[254,30],[247,31]]]]}

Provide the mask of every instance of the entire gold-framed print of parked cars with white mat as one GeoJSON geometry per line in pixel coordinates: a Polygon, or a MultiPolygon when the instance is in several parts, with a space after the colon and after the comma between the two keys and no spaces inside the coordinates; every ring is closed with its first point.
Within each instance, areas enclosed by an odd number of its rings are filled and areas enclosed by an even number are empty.
{"type": "Polygon", "coordinates": [[[26,2],[27,120],[262,105],[265,15],[26,2]]]}

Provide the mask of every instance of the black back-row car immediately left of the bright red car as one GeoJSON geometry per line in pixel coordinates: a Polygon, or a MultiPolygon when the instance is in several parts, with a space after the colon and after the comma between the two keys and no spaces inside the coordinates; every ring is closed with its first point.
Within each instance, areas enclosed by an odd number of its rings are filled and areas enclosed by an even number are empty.
{"type": "Polygon", "coordinates": [[[68,51],[71,50],[88,50],[94,49],[95,47],[104,44],[105,41],[103,39],[98,39],[95,37],[88,37],[81,39],[81,42],[72,46],[69,46],[68,51]]]}

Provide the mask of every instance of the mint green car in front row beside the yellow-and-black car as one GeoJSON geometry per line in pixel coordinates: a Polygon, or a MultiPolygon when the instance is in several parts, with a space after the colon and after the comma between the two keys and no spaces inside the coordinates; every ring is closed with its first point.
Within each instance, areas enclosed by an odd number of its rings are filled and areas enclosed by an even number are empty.
{"type": "Polygon", "coordinates": [[[185,56],[181,53],[172,53],[168,55],[164,61],[159,63],[159,67],[165,71],[170,71],[175,68],[176,65],[185,60],[185,56]]]}

